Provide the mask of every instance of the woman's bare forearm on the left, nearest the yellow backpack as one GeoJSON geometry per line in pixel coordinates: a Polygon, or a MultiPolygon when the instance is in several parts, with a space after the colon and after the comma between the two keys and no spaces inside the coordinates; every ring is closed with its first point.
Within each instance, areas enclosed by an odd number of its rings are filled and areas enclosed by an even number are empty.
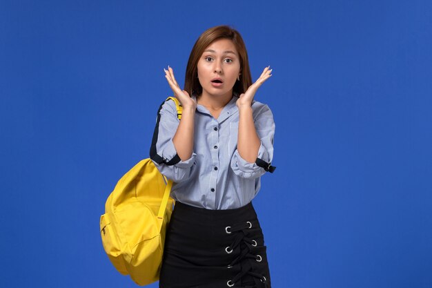
{"type": "Polygon", "coordinates": [[[175,150],[181,161],[186,161],[192,156],[193,152],[193,135],[194,135],[195,107],[183,107],[181,112],[180,124],[173,137],[175,150]]]}

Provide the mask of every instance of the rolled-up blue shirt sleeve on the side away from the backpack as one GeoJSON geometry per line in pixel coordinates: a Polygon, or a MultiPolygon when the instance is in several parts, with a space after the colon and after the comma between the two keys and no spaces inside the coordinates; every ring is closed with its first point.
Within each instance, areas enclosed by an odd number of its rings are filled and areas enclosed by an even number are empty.
{"type": "MultiPolygon", "coordinates": [[[[273,139],[275,136],[275,121],[273,113],[267,105],[261,104],[253,111],[255,129],[261,144],[259,145],[257,160],[262,160],[270,166],[273,161],[273,139]]],[[[254,108],[254,107],[253,107],[254,108]]],[[[244,178],[256,178],[266,173],[266,169],[258,166],[257,162],[251,163],[244,160],[237,149],[234,151],[230,163],[235,175],[244,178]]]]}

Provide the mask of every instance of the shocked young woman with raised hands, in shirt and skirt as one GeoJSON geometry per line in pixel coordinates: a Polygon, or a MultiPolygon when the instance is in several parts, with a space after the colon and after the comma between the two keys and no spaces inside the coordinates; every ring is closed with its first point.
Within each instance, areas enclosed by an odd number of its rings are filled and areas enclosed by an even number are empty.
{"type": "MultiPolygon", "coordinates": [[[[165,69],[164,69],[165,70],[165,69]]],[[[168,66],[173,101],[158,111],[150,157],[172,179],[176,200],[166,234],[159,287],[271,287],[264,236],[251,203],[260,177],[275,167],[275,124],[254,95],[237,30],[206,30],[190,52],[184,90],[168,66]]]]}

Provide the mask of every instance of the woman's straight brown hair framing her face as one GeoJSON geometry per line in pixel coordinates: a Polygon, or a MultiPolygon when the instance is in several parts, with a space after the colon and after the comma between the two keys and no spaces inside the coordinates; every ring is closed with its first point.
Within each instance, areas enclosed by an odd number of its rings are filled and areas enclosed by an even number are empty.
{"type": "Polygon", "coordinates": [[[210,44],[219,39],[230,39],[233,41],[240,58],[240,81],[236,81],[233,87],[233,92],[238,95],[245,93],[249,86],[252,85],[251,69],[249,68],[248,52],[246,51],[246,46],[242,39],[240,33],[230,28],[229,26],[215,26],[204,31],[202,35],[199,36],[195,45],[190,51],[190,56],[188,60],[188,66],[186,66],[186,75],[184,81],[184,90],[189,93],[189,95],[201,95],[202,86],[199,84],[198,79],[198,61],[202,56],[204,49],[206,49],[210,44]]]}

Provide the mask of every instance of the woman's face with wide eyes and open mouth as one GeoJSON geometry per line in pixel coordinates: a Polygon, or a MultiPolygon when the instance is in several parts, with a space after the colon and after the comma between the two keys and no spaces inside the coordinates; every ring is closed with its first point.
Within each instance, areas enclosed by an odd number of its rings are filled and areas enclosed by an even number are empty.
{"type": "Polygon", "coordinates": [[[197,68],[203,94],[230,96],[240,74],[239,54],[233,41],[214,41],[202,53],[197,68]]]}

